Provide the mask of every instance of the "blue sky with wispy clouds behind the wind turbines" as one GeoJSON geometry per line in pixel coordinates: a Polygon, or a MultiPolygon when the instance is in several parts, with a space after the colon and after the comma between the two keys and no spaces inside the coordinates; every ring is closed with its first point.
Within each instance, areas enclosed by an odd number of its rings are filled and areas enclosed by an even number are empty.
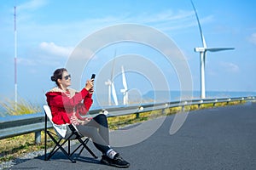
{"type": "MultiPolygon", "coordinates": [[[[194,0],[194,3],[207,46],[236,48],[207,53],[207,91],[255,92],[256,3],[248,0],[194,0]]],[[[21,98],[40,103],[44,93],[54,86],[49,77],[56,68],[65,67],[79,42],[102,28],[126,23],[150,26],[170,37],[187,59],[193,89],[200,90],[200,59],[194,48],[201,47],[201,37],[189,0],[2,0],[0,99],[15,96],[14,6],[17,6],[17,77],[21,98]]],[[[154,50],[129,42],[102,49],[97,54],[102,60],[84,71],[81,84],[92,72],[100,74],[102,65],[109,64],[115,50],[117,55],[148,56],[165,74],[170,89],[180,89],[175,69],[166,65],[165,59],[156,59],[158,54],[154,50]]],[[[128,86],[136,88],[139,94],[152,90],[147,80],[138,83],[141,77],[132,72],[126,78],[128,86]]],[[[122,88],[120,79],[120,75],[115,77],[117,91],[122,88]]]]}

